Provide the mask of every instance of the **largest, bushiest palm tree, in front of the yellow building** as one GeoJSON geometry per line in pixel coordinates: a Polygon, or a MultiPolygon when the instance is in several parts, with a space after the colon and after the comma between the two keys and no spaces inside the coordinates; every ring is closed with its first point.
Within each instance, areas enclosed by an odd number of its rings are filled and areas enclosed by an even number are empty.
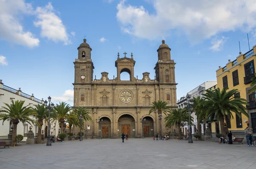
{"type": "Polygon", "coordinates": [[[240,117],[241,114],[249,117],[246,112],[244,105],[247,105],[247,100],[234,97],[238,93],[238,89],[232,89],[227,92],[227,88],[222,89],[222,91],[217,88],[214,91],[207,90],[204,94],[206,101],[204,106],[206,107],[206,117],[213,117],[220,121],[221,123],[221,134],[226,135],[226,129],[224,127],[225,118],[234,118],[232,112],[240,117]]]}

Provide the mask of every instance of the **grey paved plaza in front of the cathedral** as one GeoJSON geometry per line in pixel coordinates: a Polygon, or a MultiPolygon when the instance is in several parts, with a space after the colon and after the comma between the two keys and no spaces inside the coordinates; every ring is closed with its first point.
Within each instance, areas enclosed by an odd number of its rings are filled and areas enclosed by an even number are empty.
{"type": "Polygon", "coordinates": [[[0,148],[0,169],[256,169],[256,147],[102,139],[0,148]]]}

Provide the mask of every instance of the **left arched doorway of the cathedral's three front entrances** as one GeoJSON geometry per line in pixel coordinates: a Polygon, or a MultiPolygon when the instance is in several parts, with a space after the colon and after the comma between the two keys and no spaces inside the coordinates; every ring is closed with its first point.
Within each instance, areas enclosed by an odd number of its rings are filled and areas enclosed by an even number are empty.
{"type": "Polygon", "coordinates": [[[100,137],[111,138],[111,120],[108,117],[100,119],[100,137]]]}

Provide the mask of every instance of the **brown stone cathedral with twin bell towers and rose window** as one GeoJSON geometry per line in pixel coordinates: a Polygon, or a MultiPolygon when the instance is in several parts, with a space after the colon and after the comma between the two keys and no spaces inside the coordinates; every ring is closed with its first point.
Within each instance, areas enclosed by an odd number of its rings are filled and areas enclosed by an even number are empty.
{"type": "MultiPolygon", "coordinates": [[[[153,137],[171,129],[164,126],[156,112],[148,115],[151,103],[164,100],[170,109],[177,108],[175,82],[175,62],[171,60],[171,49],[162,41],[157,49],[155,75],[143,73],[143,78],[134,77],[135,60],[133,54],[127,57],[117,55],[116,77],[102,72],[100,79],[93,79],[92,49],[84,39],[78,47],[75,60],[74,108],[82,106],[91,111],[92,121],[84,123],[84,135],[88,138],[120,138],[128,133],[131,138],[153,137]],[[120,74],[127,72],[130,80],[121,80],[120,74]]],[[[145,58],[146,59],[146,58],[145,58]]],[[[74,133],[79,132],[75,127],[74,133]]]]}

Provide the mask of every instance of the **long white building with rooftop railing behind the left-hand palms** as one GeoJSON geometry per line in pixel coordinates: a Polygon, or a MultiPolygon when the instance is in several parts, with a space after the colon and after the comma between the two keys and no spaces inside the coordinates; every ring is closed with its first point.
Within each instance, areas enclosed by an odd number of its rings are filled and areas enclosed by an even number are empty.
{"type": "MultiPolygon", "coordinates": [[[[37,98],[34,97],[34,95],[27,95],[26,93],[23,93],[20,88],[19,90],[13,89],[9,86],[6,86],[2,83],[2,80],[0,80],[0,109],[2,108],[2,106],[6,106],[4,103],[7,104],[11,104],[12,100],[23,100],[24,105],[23,106],[27,106],[30,105],[31,107],[33,107],[34,105],[37,104],[43,104],[44,100],[39,100],[37,98]]],[[[32,119],[35,120],[35,117],[31,117],[32,119]]],[[[10,120],[6,120],[3,123],[3,120],[0,120],[0,139],[4,139],[8,137],[9,131],[11,130],[11,126],[12,124],[10,123],[10,120]]],[[[29,130],[29,127],[32,126],[32,131],[35,134],[35,137],[37,136],[38,132],[38,126],[37,125],[30,125],[29,123],[25,123],[22,124],[21,122],[18,123],[17,125],[17,135],[23,135],[23,140],[22,141],[26,141],[27,139],[27,133],[29,130]]],[[[54,124],[54,126],[51,127],[51,132],[53,135],[58,135],[58,129],[59,129],[59,125],[57,123],[54,124]]],[[[48,123],[42,126],[42,130],[44,130],[44,133],[48,133],[48,123]]]]}

